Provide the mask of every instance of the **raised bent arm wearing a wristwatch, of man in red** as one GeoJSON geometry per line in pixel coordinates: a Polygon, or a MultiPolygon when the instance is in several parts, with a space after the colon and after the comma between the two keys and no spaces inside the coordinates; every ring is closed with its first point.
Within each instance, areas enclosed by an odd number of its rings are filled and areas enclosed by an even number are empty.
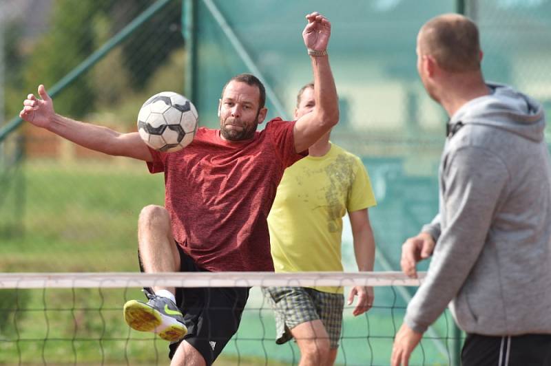
{"type": "Polygon", "coordinates": [[[312,63],[315,107],[295,124],[295,150],[298,153],[311,147],[339,121],[337,89],[329,65],[329,56],[326,54],[331,36],[331,23],[318,12],[306,15],[306,20],[308,24],[302,32],[302,38],[309,50],[312,63]]]}

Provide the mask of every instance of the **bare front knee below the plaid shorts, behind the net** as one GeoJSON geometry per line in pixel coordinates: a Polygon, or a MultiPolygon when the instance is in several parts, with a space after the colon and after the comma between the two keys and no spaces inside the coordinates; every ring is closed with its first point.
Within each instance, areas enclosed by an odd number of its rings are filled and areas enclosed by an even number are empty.
{"type": "MultiPolygon", "coordinates": [[[[299,366],[325,365],[329,358],[329,335],[322,321],[307,321],[291,330],[300,349],[299,366]]],[[[336,355],[336,354],[335,354],[336,355]]]]}

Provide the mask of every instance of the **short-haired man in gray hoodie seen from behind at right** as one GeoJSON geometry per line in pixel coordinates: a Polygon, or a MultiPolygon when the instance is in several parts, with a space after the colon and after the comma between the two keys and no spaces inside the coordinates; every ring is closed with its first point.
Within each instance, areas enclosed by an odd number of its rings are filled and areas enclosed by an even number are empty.
{"type": "Polygon", "coordinates": [[[439,213],[402,247],[402,270],[433,253],[396,334],[408,359],[448,303],[467,333],[462,365],[551,365],[551,169],[539,103],[485,83],[477,26],[458,14],[417,36],[417,70],[448,115],[439,213]],[[434,252],[433,252],[434,250],[434,252]]]}

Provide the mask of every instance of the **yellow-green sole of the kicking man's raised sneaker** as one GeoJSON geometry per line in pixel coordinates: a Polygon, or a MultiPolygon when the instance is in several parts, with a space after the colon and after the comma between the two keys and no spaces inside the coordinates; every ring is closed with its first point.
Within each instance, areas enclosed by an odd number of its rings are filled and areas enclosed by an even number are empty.
{"type": "Polygon", "coordinates": [[[154,332],[165,341],[180,341],[187,333],[185,325],[140,301],[127,301],[124,306],[124,315],[126,323],[132,329],[140,332],[154,332]]]}

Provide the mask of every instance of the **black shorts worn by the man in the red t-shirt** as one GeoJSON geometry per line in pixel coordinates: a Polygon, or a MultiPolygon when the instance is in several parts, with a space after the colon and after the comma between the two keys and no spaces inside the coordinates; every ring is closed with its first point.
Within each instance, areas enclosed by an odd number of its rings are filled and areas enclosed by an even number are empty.
{"type": "MultiPolygon", "coordinates": [[[[180,272],[208,272],[199,268],[178,246],[180,272]]],[[[138,255],[139,257],[139,255],[138,255]]],[[[140,269],[143,267],[140,261],[140,269]]],[[[176,305],[184,315],[187,334],[183,340],[192,345],[212,365],[238,330],[250,288],[176,288],[176,305]]],[[[169,345],[172,359],[182,341],[169,345]]]]}

